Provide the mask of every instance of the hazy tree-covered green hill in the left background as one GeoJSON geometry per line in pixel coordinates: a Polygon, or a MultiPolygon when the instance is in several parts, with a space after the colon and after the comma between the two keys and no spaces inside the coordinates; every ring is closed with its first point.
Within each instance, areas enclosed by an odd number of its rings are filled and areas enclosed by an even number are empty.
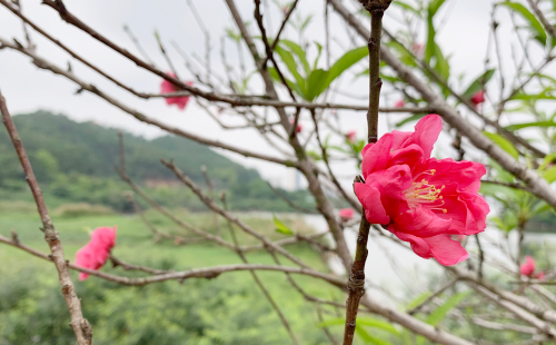
{"type": "MultiPolygon", "coordinates": [[[[37,111],[13,117],[36,175],[53,201],[102,204],[126,211],[127,186],[119,181],[118,130],[93,122],[75,122],[63,115],[37,111]]],[[[126,169],[138,184],[148,186],[161,204],[202,208],[160,159],[173,159],[196,183],[205,185],[206,166],[218,190],[226,189],[235,209],[291,210],[254,169],[246,169],[195,141],[165,136],[147,140],[125,134],[126,169]]],[[[6,130],[0,130],[0,195],[17,199],[27,195],[24,176],[6,130]]],[[[305,191],[288,198],[305,206],[312,203],[305,191]]]]}

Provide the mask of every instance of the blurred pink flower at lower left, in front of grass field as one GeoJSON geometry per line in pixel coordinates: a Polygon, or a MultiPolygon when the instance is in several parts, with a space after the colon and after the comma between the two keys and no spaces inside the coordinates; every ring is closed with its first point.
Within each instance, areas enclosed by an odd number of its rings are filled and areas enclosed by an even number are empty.
{"type": "MultiPolygon", "coordinates": [[[[76,265],[89,269],[102,267],[110,255],[110,250],[116,245],[116,230],[117,227],[95,229],[91,234],[91,240],[77,252],[76,265]]],[[[79,274],[79,280],[85,280],[88,277],[87,273],[79,274]]]]}

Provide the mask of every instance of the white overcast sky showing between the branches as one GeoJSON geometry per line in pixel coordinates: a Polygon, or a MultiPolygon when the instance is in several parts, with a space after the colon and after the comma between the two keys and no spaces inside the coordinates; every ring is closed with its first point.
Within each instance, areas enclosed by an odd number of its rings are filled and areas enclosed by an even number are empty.
{"type": "MultiPolygon", "coordinates": [[[[78,29],[66,24],[60,20],[57,12],[40,4],[40,0],[21,0],[23,12],[37,22],[40,27],[48,29],[56,38],[68,45],[79,55],[87,57],[95,65],[105,71],[125,81],[133,88],[157,92],[160,79],[145,70],[137,68],[133,63],[118,56],[116,52],[95,41],[78,29]]],[[[224,0],[193,0],[196,7],[210,30],[211,42],[215,46],[212,51],[212,63],[217,71],[221,71],[219,45],[226,28],[235,28],[229,11],[224,0]]],[[[187,75],[186,68],[175,50],[170,48],[170,40],[175,40],[189,55],[197,52],[203,56],[203,37],[197,22],[193,20],[186,0],[66,0],[66,6],[90,24],[97,31],[110,38],[115,42],[126,47],[137,53],[135,47],[122,30],[123,24],[128,24],[135,34],[139,37],[143,48],[149,51],[158,66],[168,69],[163,58],[158,52],[153,38],[153,30],[157,29],[167,48],[171,51],[175,63],[185,78],[191,79],[187,75]]],[[[245,19],[251,18],[252,0],[237,0],[245,19]]],[[[270,2],[270,1],[268,1],[270,2]]],[[[347,1],[345,1],[347,2],[347,1]]],[[[441,33],[438,37],[438,43],[443,47],[446,55],[450,56],[453,75],[465,73],[465,80],[477,77],[484,71],[484,60],[489,34],[489,20],[494,1],[492,0],[449,0],[439,16],[439,21],[444,22],[441,33]]],[[[312,13],[315,20],[308,28],[310,40],[324,42],[324,1],[322,0],[300,0],[299,10],[304,14],[312,13]]],[[[275,16],[271,18],[270,31],[275,34],[280,13],[270,4],[275,16]]],[[[387,28],[395,29],[396,10],[391,10],[385,20],[387,28]]],[[[500,33],[508,36],[512,30],[509,17],[506,13],[498,16],[500,33]]],[[[252,20],[251,20],[252,21],[252,20]]],[[[337,41],[349,47],[347,30],[344,22],[336,16],[331,17],[331,32],[337,41]]],[[[255,28],[252,28],[255,29],[255,28]]],[[[287,30],[287,36],[294,38],[295,32],[291,28],[287,30]]],[[[22,40],[21,22],[0,7],[0,36],[6,39],[17,37],[22,40]]],[[[32,33],[32,38],[38,43],[38,52],[57,62],[60,66],[67,66],[70,57],[61,49],[42,39],[38,33],[32,33]]],[[[337,57],[341,51],[338,43],[332,43],[337,57]]],[[[237,62],[237,52],[228,41],[226,56],[230,62],[237,62]]],[[[502,47],[503,53],[510,53],[510,46],[502,47]]],[[[334,59],[332,59],[334,60],[334,59]]],[[[250,62],[250,58],[247,57],[250,62]]],[[[508,59],[509,61],[509,59],[508,59]]],[[[509,63],[509,62],[508,62],[509,63]]],[[[125,103],[137,108],[145,114],[157,119],[173,124],[189,131],[202,134],[209,138],[234,142],[237,146],[248,147],[252,150],[272,152],[269,147],[258,137],[255,130],[226,131],[206,116],[195,103],[190,103],[186,111],[179,111],[176,108],[167,107],[161,99],[140,100],[121,90],[110,82],[107,82],[87,67],[73,61],[75,72],[82,79],[92,82],[102,90],[109,91],[125,103]]],[[[360,71],[361,67],[354,71],[360,71]]],[[[155,127],[143,125],[125,114],[123,111],[110,106],[99,97],[82,92],[75,95],[76,86],[62,77],[57,77],[51,72],[39,70],[30,60],[18,52],[10,50],[0,51],[0,88],[8,99],[9,107],[13,114],[29,112],[38,109],[47,109],[54,112],[62,112],[78,121],[92,120],[97,124],[110,127],[118,127],[141,135],[148,138],[162,135],[155,127]]],[[[341,81],[342,90],[356,95],[367,93],[367,81],[360,79],[353,81],[351,77],[346,77],[341,81]]],[[[336,101],[353,101],[338,97],[336,101]]],[[[388,100],[390,105],[397,99],[388,100]]],[[[365,101],[363,101],[365,103],[365,101]]],[[[340,112],[342,128],[345,130],[358,129],[359,136],[364,136],[365,127],[364,112],[340,112]]],[[[399,119],[400,116],[393,116],[399,119]]],[[[308,120],[306,120],[309,122],[308,120]]],[[[386,122],[381,121],[381,132],[386,130],[386,122]]],[[[234,154],[227,154],[228,157],[257,168],[262,176],[278,180],[284,176],[285,168],[272,164],[259,162],[255,159],[246,159],[234,154]]],[[[346,171],[346,175],[350,171],[346,171]]]]}

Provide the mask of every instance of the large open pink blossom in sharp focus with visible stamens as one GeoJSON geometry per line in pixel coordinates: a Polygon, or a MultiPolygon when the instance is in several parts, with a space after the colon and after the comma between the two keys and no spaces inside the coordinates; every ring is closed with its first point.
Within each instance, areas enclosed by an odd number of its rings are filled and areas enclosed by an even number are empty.
{"type": "Polygon", "coordinates": [[[469,255],[449,235],[485,230],[488,204],[478,195],[485,166],[430,158],[443,121],[427,115],[415,132],[395,130],[363,150],[365,184],[355,193],[371,224],[409,241],[415,254],[449,266],[469,255]]]}

